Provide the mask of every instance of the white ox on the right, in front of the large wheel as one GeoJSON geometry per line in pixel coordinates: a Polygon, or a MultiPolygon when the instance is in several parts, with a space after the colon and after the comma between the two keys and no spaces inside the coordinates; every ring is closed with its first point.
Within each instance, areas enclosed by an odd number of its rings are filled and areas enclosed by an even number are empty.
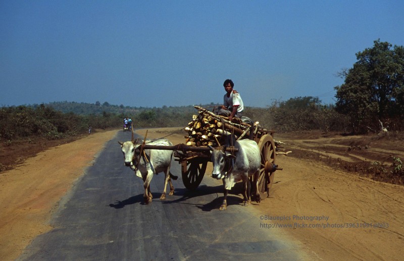
{"type": "Polygon", "coordinates": [[[248,178],[254,176],[256,201],[261,202],[258,190],[259,168],[261,165],[260,148],[252,140],[239,140],[234,142],[234,148],[238,151],[235,155],[226,152],[226,146],[218,148],[209,147],[213,163],[212,177],[223,179],[224,200],[220,210],[225,210],[227,206],[226,198],[229,190],[238,181],[243,182],[243,205],[247,206],[251,193],[251,184],[248,178]]]}

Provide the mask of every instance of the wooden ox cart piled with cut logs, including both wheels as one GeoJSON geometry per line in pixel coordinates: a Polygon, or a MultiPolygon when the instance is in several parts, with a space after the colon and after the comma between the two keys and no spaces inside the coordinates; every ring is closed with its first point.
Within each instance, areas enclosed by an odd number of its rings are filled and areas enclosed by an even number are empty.
{"type": "MultiPolygon", "coordinates": [[[[194,107],[199,114],[194,115],[192,122],[185,128],[189,134],[186,137],[186,144],[158,146],[147,145],[143,141],[140,151],[142,149],[173,150],[175,161],[181,164],[184,186],[189,190],[195,190],[204,178],[208,162],[211,161],[208,145],[212,147],[218,146],[230,134],[237,139],[254,140],[257,142],[261,152],[260,195],[262,199],[269,197],[274,182],[275,170],[282,169],[275,164],[276,152],[273,139],[275,131],[262,128],[258,122],[252,124],[241,121],[238,123],[231,122],[228,118],[217,116],[205,108],[194,107]]],[[[226,150],[234,153],[237,149],[230,146],[226,150]]]]}

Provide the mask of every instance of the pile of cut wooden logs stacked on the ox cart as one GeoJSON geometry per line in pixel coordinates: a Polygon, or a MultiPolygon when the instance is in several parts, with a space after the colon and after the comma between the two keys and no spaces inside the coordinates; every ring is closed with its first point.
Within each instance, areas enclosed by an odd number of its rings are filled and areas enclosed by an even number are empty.
{"type": "Polygon", "coordinates": [[[192,121],[184,128],[188,133],[188,136],[185,136],[186,145],[217,147],[223,144],[230,134],[236,139],[249,135],[251,125],[231,122],[227,117],[216,115],[205,108],[194,107],[198,110],[198,115],[192,115],[192,121]]]}

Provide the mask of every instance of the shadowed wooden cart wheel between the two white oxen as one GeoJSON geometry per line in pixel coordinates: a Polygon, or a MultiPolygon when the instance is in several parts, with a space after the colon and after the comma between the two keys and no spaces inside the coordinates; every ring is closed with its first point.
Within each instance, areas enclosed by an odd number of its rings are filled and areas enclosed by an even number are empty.
{"type": "Polygon", "coordinates": [[[185,188],[195,190],[204,178],[207,160],[193,159],[182,162],[182,182],[185,188]]]}

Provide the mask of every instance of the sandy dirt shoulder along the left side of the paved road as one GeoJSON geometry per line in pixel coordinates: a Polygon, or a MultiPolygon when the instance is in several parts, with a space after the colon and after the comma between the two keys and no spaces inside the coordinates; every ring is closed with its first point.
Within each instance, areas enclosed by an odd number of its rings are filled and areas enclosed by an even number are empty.
{"type": "Polygon", "coordinates": [[[48,225],[60,199],[117,130],[54,147],[0,173],[0,259],[14,260],[48,225]]]}

